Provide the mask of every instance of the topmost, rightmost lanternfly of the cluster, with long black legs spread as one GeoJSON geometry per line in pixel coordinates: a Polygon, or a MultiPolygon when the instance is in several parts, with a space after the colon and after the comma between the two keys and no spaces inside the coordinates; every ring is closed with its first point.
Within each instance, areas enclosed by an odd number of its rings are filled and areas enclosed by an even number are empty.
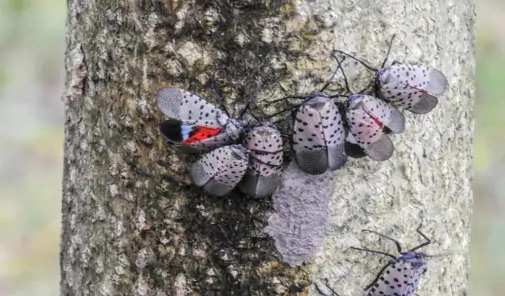
{"type": "Polygon", "coordinates": [[[372,83],[375,82],[376,92],[383,100],[412,113],[426,114],[437,106],[437,96],[445,92],[447,78],[439,70],[421,65],[393,61],[391,66],[385,67],[394,37],[391,38],[380,69],[345,52],[336,52],[355,59],[375,74],[372,83]]]}

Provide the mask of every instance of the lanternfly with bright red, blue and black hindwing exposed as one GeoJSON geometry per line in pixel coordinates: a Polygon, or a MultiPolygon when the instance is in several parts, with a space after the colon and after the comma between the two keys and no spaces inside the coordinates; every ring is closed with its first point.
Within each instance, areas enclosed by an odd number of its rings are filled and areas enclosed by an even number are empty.
{"type": "Polygon", "coordinates": [[[203,98],[180,88],[156,93],[161,112],[170,117],[160,123],[166,141],[181,152],[207,152],[236,141],[242,125],[203,98]]]}

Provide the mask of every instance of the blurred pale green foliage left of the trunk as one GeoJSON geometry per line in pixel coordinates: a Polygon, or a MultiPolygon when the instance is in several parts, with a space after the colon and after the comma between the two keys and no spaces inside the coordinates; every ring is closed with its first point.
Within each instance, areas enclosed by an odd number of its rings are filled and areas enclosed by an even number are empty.
{"type": "Polygon", "coordinates": [[[59,293],[66,3],[0,2],[0,290],[59,293]]]}

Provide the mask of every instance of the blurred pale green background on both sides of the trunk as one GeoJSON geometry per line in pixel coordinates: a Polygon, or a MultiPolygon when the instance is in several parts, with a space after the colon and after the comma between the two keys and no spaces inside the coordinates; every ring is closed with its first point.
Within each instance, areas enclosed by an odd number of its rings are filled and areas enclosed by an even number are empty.
{"type": "MultiPolygon", "coordinates": [[[[504,8],[500,1],[477,3],[485,17],[477,26],[470,295],[479,296],[505,295],[504,8]]],[[[65,20],[63,0],[0,1],[3,295],[59,293],[65,20]]]]}

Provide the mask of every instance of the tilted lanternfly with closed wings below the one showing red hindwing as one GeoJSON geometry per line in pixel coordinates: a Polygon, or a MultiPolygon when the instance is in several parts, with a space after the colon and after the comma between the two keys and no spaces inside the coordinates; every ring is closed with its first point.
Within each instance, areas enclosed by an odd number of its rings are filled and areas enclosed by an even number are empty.
{"type": "Polygon", "coordinates": [[[229,193],[247,170],[249,151],[242,145],[219,147],[200,159],[190,168],[193,183],[214,196],[229,193]]]}

